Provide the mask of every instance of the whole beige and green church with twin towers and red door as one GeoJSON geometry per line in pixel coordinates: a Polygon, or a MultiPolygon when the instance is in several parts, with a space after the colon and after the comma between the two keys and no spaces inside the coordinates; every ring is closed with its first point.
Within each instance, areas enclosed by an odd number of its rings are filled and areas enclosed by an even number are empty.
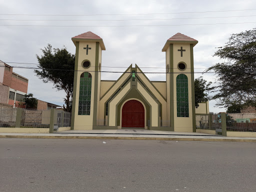
{"type": "Polygon", "coordinates": [[[162,48],[166,81],[151,81],[137,65],[127,66],[117,80],[101,80],[102,38],[88,31],[71,39],[76,47],[71,129],[195,132],[193,47],[197,40],[181,33],[167,39],[162,48]]]}

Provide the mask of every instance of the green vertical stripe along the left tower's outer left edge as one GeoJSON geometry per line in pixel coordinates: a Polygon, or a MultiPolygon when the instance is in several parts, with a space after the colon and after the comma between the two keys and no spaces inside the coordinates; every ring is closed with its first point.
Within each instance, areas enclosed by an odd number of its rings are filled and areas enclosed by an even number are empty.
{"type": "Polygon", "coordinates": [[[70,129],[74,129],[74,116],[78,112],[75,108],[76,103],[76,88],[77,88],[77,70],[78,70],[78,53],[79,53],[79,41],[75,42],[75,61],[74,61],[74,84],[73,84],[73,98],[72,98],[72,114],[71,114],[71,125],[70,129]]]}

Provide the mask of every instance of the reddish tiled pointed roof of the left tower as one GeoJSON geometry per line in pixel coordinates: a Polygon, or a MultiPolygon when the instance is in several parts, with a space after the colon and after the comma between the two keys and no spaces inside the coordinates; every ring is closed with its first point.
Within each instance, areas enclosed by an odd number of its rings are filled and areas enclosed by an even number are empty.
{"type": "Polygon", "coordinates": [[[84,32],[82,34],[78,34],[71,38],[73,43],[75,44],[76,41],[91,41],[91,42],[99,42],[101,49],[105,50],[105,45],[103,43],[102,38],[100,36],[96,35],[95,33],[88,31],[84,32]]]}

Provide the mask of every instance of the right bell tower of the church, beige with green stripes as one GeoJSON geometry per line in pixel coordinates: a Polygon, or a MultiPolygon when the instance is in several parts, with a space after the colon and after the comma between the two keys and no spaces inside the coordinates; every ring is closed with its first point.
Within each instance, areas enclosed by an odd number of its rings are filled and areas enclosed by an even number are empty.
{"type": "Polygon", "coordinates": [[[166,52],[167,120],[174,131],[195,132],[193,46],[197,42],[176,33],[162,48],[166,52]]]}

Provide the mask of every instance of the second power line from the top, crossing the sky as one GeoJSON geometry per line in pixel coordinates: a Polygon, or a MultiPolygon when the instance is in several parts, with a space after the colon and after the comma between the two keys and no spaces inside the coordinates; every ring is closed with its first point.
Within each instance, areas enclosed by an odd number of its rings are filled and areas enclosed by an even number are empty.
{"type": "Polygon", "coordinates": [[[233,17],[248,17],[256,15],[241,15],[241,16],[215,16],[215,17],[186,17],[186,18],[148,18],[148,19],[0,19],[11,21],[127,21],[127,20],[172,20],[172,19],[201,19],[201,18],[233,18],[233,17]]]}

